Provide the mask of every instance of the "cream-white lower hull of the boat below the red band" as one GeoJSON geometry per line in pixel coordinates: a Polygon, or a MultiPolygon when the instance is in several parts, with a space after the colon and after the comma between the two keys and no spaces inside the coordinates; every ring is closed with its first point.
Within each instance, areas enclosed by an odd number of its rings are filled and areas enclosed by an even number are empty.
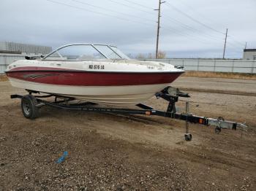
{"type": "Polygon", "coordinates": [[[170,85],[170,83],[166,83],[157,85],[74,86],[42,84],[15,78],[9,79],[14,87],[108,105],[138,104],[148,100],[155,93],[170,85]]]}

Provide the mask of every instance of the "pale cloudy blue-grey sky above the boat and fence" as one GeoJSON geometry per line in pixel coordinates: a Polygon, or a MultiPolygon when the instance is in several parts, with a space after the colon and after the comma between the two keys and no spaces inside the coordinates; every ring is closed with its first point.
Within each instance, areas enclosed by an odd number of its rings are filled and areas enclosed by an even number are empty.
{"type": "MultiPolygon", "coordinates": [[[[256,0],[165,0],[159,50],[167,58],[241,58],[256,48],[256,0]]],[[[158,0],[1,0],[0,42],[53,48],[113,44],[127,54],[154,55],[158,0]]]]}

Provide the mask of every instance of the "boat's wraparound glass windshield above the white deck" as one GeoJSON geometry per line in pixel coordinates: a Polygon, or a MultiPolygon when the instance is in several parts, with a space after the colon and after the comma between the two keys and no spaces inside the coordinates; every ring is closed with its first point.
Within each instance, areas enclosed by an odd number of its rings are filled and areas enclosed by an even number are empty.
{"type": "Polygon", "coordinates": [[[69,44],[60,47],[43,60],[46,61],[86,61],[96,59],[129,59],[117,47],[105,44],[69,44]]]}

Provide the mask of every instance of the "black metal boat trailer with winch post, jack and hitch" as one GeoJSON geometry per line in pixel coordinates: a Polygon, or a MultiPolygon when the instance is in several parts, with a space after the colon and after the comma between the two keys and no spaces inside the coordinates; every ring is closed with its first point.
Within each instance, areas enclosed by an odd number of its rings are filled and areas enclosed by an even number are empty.
{"type": "Polygon", "coordinates": [[[121,109],[121,108],[111,108],[111,107],[96,107],[94,103],[83,102],[78,104],[72,104],[70,101],[74,101],[75,98],[69,98],[61,95],[32,95],[32,93],[39,93],[36,91],[27,90],[28,95],[11,95],[11,98],[20,98],[21,99],[21,109],[24,117],[28,119],[35,119],[39,116],[39,108],[42,106],[53,106],[59,109],[71,109],[71,110],[80,110],[83,112],[97,112],[97,113],[109,113],[109,114],[140,114],[140,115],[156,115],[161,117],[168,117],[176,120],[183,120],[186,122],[185,125],[185,140],[191,141],[192,134],[189,133],[189,122],[197,123],[206,126],[215,126],[215,133],[220,133],[222,129],[232,129],[236,130],[237,128],[246,128],[247,126],[240,122],[233,122],[224,120],[222,117],[217,119],[210,117],[201,117],[189,113],[189,102],[186,102],[186,112],[177,113],[176,112],[176,102],[178,97],[190,96],[188,93],[182,93],[176,87],[166,87],[159,93],[156,93],[157,98],[163,98],[165,101],[168,101],[166,111],[160,111],[152,108],[151,106],[146,106],[145,104],[137,104],[136,106],[140,109],[121,109]],[[42,98],[55,97],[54,101],[47,101],[42,98]],[[60,99],[58,101],[58,99],[60,99]]]}

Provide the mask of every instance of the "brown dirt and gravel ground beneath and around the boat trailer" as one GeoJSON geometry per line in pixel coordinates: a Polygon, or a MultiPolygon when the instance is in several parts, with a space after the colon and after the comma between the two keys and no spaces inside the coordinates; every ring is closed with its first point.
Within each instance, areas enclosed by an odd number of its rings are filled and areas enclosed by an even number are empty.
{"type": "MultiPolygon", "coordinates": [[[[0,82],[0,190],[256,190],[256,80],[180,77],[179,112],[246,122],[247,130],[189,125],[162,117],[42,107],[27,120],[0,82]],[[56,163],[64,151],[67,158],[56,163]]],[[[151,98],[146,104],[166,109],[151,98]]]]}

